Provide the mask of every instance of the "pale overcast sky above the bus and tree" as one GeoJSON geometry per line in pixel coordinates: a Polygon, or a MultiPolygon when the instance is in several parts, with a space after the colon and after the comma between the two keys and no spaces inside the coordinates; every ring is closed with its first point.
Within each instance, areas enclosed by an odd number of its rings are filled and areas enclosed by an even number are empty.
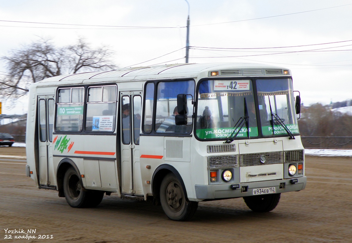
{"type": "MultiPolygon", "coordinates": [[[[190,63],[282,66],[291,69],[305,105],[352,99],[352,1],[188,2],[190,63]]],[[[82,37],[110,46],[119,67],[183,63],[187,15],[185,0],[0,0],[0,56],[41,37],[57,46],[82,37]]],[[[2,113],[26,110],[3,104],[2,113]]]]}

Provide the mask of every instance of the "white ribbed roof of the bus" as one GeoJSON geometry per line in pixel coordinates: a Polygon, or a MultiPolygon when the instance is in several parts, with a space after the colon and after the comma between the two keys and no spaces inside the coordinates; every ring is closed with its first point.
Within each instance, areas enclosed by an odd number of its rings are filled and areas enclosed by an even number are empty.
{"type": "Polygon", "coordinates": [[[118,68],[105,72],[87,72],[49,77],[40,82],[46,83],[61,81],[61,83],[90,83],[99,82],[99,79],[111,81],[124,80],[152,80],[167,78],[183,78],[210,76],[210,72],[218,71],[218,76],[267,76],[290,75],[287,68],[255,64],[255,63],[180,63],[170,65],[156,65],[147,67],[118,68]],[[285,71],[288,71],[284,73],[285,71]],[[208,75],[209,74],[209,75],[208,75]],[[68,81],[68,82],[62,82],[68,81]]]}

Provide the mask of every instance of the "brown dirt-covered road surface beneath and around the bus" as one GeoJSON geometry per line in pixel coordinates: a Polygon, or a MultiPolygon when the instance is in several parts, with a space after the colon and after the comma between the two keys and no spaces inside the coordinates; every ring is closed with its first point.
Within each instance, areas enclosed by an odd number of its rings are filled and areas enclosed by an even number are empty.
{"type": "Polygon", "coordinates": [[[71,208],[6,154],[24,156],[24,148],[0,147],[1,242],[352,242],[352,158],[307,156],[306,189],[282,194],[269,213],[237,198],[201,202],[191,221],[174,222],[161,207],[113,194],[97,208],[71,208]],[[36,238],[15,239],[26,234],[36,238]]]}

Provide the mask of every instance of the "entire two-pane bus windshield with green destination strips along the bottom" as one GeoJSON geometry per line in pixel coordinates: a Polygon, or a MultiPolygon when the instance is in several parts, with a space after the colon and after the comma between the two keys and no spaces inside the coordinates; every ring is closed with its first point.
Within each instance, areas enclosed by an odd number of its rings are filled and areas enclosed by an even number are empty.
{"type": "Polygon", "coordinates": [[[291,79],[204,80],[199,85],[196,136],[234,139],[298,134],[291,79]],[[254,101],[254,92],[258,100],[254,101]],[[257,104],[257,105],[256,105],[257,104]]]}

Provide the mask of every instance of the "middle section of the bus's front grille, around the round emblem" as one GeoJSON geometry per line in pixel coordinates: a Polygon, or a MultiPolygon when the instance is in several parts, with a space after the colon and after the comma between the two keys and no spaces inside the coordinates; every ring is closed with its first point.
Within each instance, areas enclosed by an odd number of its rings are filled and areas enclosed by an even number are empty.
{"type": "Polygon", "coordinates": [[[262,164],[281,164],[284,162],[283,152],[270,152],[258,154],[241,154],[240,166],[259,166],[262,164]],[[265,155],[265,163],[260,162],[260,156],[265,155]]]}

